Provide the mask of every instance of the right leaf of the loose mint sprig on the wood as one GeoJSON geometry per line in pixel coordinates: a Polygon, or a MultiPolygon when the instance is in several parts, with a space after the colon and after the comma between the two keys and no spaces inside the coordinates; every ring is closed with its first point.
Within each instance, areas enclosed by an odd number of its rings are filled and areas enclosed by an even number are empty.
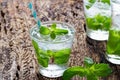
{"type": "Polygon", "coordinates": [[[106,77],[112,72],[108,64],[104,64],[104,63],[94,64],[94,66],[92,67],[94,67],[93,72],[98,77],[106,77]]]}

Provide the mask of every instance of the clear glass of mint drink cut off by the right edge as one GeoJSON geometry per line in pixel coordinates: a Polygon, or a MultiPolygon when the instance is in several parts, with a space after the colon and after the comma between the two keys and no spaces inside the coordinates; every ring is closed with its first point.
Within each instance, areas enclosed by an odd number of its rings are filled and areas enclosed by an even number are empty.
{"type": "Polygon", "coordinates": [[[107,41],[106,59],[113,64],[120,64],[120,0],[111,0],[112,28],[107,41]]]}

